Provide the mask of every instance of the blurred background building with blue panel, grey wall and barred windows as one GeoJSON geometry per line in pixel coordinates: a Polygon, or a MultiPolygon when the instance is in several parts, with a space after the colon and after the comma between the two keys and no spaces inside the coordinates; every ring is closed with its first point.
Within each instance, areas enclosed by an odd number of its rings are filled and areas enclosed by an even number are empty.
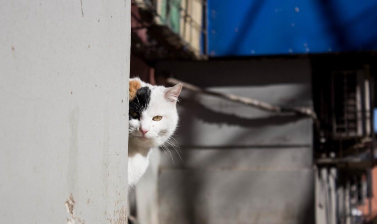
{"type": "Polygon", "coordinates": [[[282,110],[183,90],[181,159],[173,147],[153,152],[131,203],[138,222],[372,222],[376,10],[354,0],[135,0],[131,76],[282,110]]]}

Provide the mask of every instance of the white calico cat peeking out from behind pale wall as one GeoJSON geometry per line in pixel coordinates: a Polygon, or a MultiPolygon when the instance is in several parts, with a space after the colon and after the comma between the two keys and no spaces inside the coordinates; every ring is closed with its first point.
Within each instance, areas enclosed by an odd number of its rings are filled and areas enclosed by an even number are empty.
{"type": "Polygon", "coordinates": [[[130,79],[128,128],[128,186],[140,180],[149,165],[150,151],[168,141],[178,124],[176,103],[182,84],[151,85],[130,79]]]}

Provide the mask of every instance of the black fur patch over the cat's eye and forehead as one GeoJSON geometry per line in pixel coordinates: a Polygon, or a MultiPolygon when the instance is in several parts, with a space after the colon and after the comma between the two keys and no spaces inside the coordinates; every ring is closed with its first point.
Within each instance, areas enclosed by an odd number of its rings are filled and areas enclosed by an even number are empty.
{"type": "Polygon", "coordinates": [[[148,107],[150,94],[151,90],[147,86],[141,87],[137,90],[135,98],[130,101],[130,113],[128,114],[128,120],[140,118],[141,113],[148,107]],[[136,112],[138,116],[131,116],[131,111],[136,112]]]}

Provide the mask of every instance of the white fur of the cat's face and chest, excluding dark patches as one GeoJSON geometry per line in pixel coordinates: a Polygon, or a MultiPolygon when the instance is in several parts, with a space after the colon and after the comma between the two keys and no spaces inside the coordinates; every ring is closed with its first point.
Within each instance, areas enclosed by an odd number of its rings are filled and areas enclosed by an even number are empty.
{"type": "Polygon", "coordinates": [[[151,89],[149,105],[140,115],[140,120],[129,121],[128,185],[130,187],[134,186],[147,170],[150,149],[165,143],[174,133],[178,123],[176,97],[181,85],[165,88],[142,82],[142,87],[144,86],[151,89]],[[171,100],[171,94],[175,95],[175,100],[171,100]],[[162,116],[162,119],[153,121],[155,116],[162,116]],[[144,137],[140,128],[148,130],[144,137]]]}

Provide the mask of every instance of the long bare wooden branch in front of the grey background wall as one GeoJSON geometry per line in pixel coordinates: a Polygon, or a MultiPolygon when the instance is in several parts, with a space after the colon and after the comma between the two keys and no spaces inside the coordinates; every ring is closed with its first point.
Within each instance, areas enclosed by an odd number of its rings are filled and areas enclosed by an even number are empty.
{"type": "Polygon", "coordinates": [[[190,90],[190,91],[193,91],[193,92],[198,92],[198,93],[203,93],[203,94],[206,94],[206,95],[212,95],[212,96],[220,97],[220,98],[232,101],[232,102],[238,102],[238,103],[248,105],[248,106],[252,106],[252,107],[255,107],[255,108],[258,108],[258,109],[261,109],[261,110],[270,111],[270,112],[274,112],[274,113],[290,112],[290,113],[309,116],[314,120],[317,119],[316,113],[313,111],[312,108],[309,108],[309,107],[293,107],[293,108],[286,107],[286,108],[283,108],[283,107],[280,107],[280,106],[271,105],[269,103],[262,102],[262,101],[252,99],[252,98],[248,98],[248,97],[244,97],[244,96],[238,96],[238,95],[234,95],[234,94],[226,94],[226,93],[222,93],[222,92],[216,92],[216,91],[202,89],[198,86],[195,86],[195,85],[187,83],[187,82],[180,81],[180,80],[175,79],[175,78],[167,78],[166,81],[167,81],[167,83],[169,83],[171,85],[176,85],[178,83],[181,83],[183,85],[183,88],[190,90]]]}

